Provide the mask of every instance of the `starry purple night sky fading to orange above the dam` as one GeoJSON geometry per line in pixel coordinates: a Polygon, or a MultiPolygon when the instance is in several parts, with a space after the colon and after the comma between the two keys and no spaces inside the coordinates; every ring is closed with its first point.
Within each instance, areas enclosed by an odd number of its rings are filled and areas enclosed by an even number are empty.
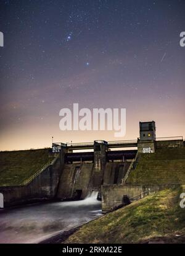
{"type": "Polygon", "coordinates": [[[0,150],[117,139],[60,131],[59,111],[126,108],[126,136],[155,120],[185,137],[183,0],[0,0],[0,150]]]}

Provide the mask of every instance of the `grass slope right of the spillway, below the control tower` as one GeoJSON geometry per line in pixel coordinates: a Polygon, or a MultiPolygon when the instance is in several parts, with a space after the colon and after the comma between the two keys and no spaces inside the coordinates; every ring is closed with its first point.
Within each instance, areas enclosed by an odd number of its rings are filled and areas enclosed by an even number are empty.
{"type": "Polygon", "coordinates": [[[131,171],[126,183],[185,183],[185,148],[157,149],[153,154],[139,154],[136,169],[131,171]]]}

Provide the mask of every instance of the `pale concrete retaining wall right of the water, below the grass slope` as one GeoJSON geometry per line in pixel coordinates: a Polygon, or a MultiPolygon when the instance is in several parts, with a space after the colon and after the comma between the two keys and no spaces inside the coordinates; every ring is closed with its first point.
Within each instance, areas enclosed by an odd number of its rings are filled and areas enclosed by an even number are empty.
{"type": "Polygon", "coordinates": [[[131,201],[134,201],[148,195],[148,193],[141,195],[143,192],[154,193],[165,188],[175,188],[176,186],[178,185],[149,185],[147,187],[127,184],[102,185],[102,212],[106,213],[112,211],[117,206],[123,205],[123,195],[128,196],[131,201]]]}

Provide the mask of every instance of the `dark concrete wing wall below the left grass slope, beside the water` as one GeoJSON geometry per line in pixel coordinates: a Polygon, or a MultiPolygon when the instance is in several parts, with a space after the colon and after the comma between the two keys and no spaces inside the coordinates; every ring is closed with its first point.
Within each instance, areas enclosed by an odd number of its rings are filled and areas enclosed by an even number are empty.
{"type": "Polygon", "coordinates": [[[4,207],[53,199],[57,193],[60,173],[60,160],[57,159],[53,166],[47,167],[27,186],[0,187],[4,207]]]}

